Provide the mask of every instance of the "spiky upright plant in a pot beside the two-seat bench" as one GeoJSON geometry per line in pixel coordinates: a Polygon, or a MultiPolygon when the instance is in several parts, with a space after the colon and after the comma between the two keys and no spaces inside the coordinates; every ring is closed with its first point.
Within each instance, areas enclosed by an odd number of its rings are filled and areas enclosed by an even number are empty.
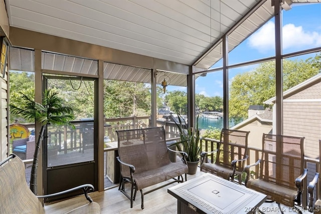
{"type": "Polygon", "coordinates": [[[196,120],[196,128],[187,128],[185,119],[178,113],[179,124],[175,122],[180,132],[180,141],[175,143],[179,151],[184,151],[188,156],[183,156],[183,161],[188,165],[188,174],[195,174],[200,162],[200,130],[199,116],[196,120]]]}

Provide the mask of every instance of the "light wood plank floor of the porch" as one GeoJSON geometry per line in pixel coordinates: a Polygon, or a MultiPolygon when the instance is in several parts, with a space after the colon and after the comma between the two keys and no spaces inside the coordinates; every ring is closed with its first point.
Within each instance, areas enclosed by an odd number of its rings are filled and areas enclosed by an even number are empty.
{"type": "MultiPolygon", "coordinates": [[[[188,175],[188,180],[201,175],[204,172],[197,171],[195,175],[188,175]]],[[[163,184],[163,183],[162,183],[163,184]]],[[[161,184],[160,184],[161,185],[161,184]]],[[[169,187],[175,186],[177,183],[168,185],[149,194],[144,195],[144,209],[140,208],[141,196],[137,192],[133,208],[130,208],[130,200],[118,190],[118,186],[107,189],[103,192],[92,192],[90,197],[93,201],[99,203],[101,213],[117,214],[117,213],[152,213],[152,214],[175,214],[177,213],[177,199],[167,192],[169,187]]],[[[129,185],[127,184],[129,187],[129,185]]],[[[149,188],[145,188],[145,191],[149,188]]],[[[127,191],[129,192],[129,190],[127,191]]],[[[68,212],[76,207],[88,203],[83,195],[76,196],[67,200],[52,202],[45,204],[46,213],[60,214],[68,212]]],[[[265,213],[281,213],[275,202],[263,203],[260,206],[265,213]]],[[[295,213],[292,208],[282,206],[284,213],[295,213]]],[[[258,211],[256,213],[259,213],[258,211]]],[[[297,212],[296,212],[297,213],[297,212]]],[[[303,213],[310,213],[303,210],[303,213]]]]}

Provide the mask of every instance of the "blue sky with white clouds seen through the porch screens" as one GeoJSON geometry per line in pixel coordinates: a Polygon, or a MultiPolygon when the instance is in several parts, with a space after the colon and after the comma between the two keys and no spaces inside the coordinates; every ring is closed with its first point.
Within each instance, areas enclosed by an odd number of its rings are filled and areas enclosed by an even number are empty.
{"type": "MultiPolygon", "coordinates": [[[[321,4],[292,5],[289,11],[283,11],[283,54],[321,47],[321,4]]],[[[274,18],[251,35],[229,54],[229,64],[237,64],[275,55],[274,18]]],[[[296,57],[306,59],[314,54],[296,57]]],[[[291,58],[292,60],[292,58],[291,58]]],[[[214,67],[220,67],[219,62],[214,67]]],[[[257,65],[232,69],[229,79],[236,74],[253,70],[257,65]]],[[[184,87],[169,86],[168,90],[183,90],[184,87]]],[[[208,73],[196,80],[195,92],[205,96],[223,96],[222,72],[208,73]]]]}

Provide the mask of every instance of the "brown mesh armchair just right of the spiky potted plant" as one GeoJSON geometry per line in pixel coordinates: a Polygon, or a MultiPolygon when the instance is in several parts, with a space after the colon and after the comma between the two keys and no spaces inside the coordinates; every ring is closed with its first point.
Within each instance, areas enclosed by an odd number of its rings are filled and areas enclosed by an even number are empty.
{"type": "Polygon", "coordinates": [[[201,171],[216,174],[225,179],[242,183],[245,160],[247,156],[247,144],[249,131],[222,129],[221,140],[217,142],[217,149],[201,153],[201,171]],[[214,154],[216,153],[216,158],[214,154]],[[210,162],[209,162],[209,156],[210,162]],[[214,162],[215,160],[215,162],[214,162]]]}

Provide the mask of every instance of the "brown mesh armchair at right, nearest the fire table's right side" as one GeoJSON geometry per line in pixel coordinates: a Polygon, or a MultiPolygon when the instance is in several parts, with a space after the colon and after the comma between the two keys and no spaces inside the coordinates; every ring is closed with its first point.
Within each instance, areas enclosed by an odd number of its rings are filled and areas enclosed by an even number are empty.
{"type": "Polygon", "coordinates": [[[255,164],[245,167],[245,185],[266,194],[279,207],[280,203],[301,207],[302,181],[307,174],[303,168],[303,143],[304,137],[263,134],[262,157],[255,164]],[[258,164],[258,178],[250,179],[250,167],[258,164]]]}

